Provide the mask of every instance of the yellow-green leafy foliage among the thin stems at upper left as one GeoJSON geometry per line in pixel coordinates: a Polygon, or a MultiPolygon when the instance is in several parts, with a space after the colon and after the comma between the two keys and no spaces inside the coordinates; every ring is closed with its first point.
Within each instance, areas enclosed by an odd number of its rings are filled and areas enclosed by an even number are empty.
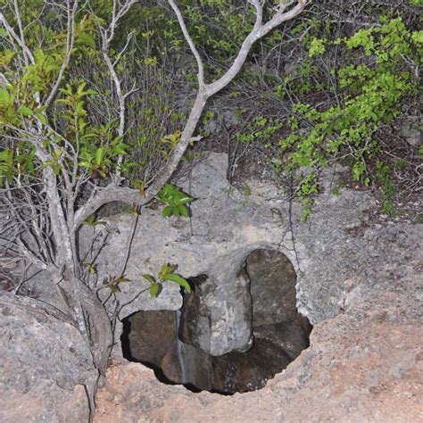
{"type": "MultiPolygon", "coordinates": [[[[31,4],[36,13],[37,2],[31,4]]],[[[23,14],[24,20],[33,18],[32,13],[23,14]]],[[[50,94],[66,51],[66,31],[60,25],[49,27],[49,19],[47,13],[42,21],[30,25],[24,21],[24,27],[30,27],[25,36],[29,47],[33,47],[33,64],[22,68],[10,50],[0,52],[2,72],[8,81],[0,87],[0,128],[11,137],[16,130],[37,128],[44,137],[42,162],[35,157],[34,145],[24,141],[25,137],[14,142],[12,148],[1,146],[4,150],[0,151],[0,184],[4,178],[9,184],[13,178],[37,178],[46,167],[56,175],[65,167],[79,178],[87,173],[94,179],[106,178],[116,170],[118,157],[127,153],[128,145],[117,137],[116,120],[97,123],[89,110],[88,105],[99,93],[87,88],[86,80],[74,78],[71,71],[64,72],[53,106],[39,105],[50,94]]],[[[79,16],[75,24],[71,62],[77,66],[87,58],[93,62],[100,58],[95,41],[96,23],[94,15],[87,13],[79,16]]]]}

